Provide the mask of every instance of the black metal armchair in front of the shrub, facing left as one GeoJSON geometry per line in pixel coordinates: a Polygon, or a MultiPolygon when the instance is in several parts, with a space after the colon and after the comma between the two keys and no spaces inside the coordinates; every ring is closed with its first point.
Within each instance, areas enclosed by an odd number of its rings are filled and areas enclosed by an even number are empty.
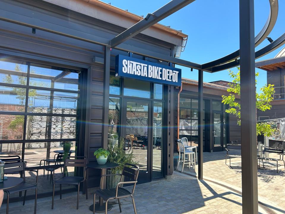
{"type": "Polygon", "coordinates": [[[140,168],[138,166],[130,164],[130,163],[126,163],[125,166],[124,166],[124,169],[122,171],[122,174],[102,175],[101,180],[100,180],[100,186],[101,186],[102,178],[105,177],[105,176],[120,175],[121,179],[120,179],[120,182],[117,184],[116,188],[113,188],[113,189],[99,189],[99,190],[95,191],[95,193],[94,193],[94,200],[93,200],[94,201],[93,214],[95,214],[95,196],[96,196],[96,194],[99,195],[100,197],[102,197],[103,200],[106,201],[105,214],[107,214],[107,206],[108,206],[108,201],[110,199],[118,199],[120,213],[121,213],[122,209],[121,209],[120,199],[121,198],[125,198],[125,197],[132,197],[133,206],[134,206],[134,213],[137,214],[136,206],[134,204],[134,196],[133,196],[133,194],[134,194],[134,188],[136,187],[137,176],[139,175],[139,171],[140,171],[140,168]],[[130,168],[128,166],[131,166],[132,168],[130,168]],[[133,168],[136,168],[136,169],[133,169],[133,168]],[[123,176],[125,178],[129,178],[131,181],[122,182],[123,176]],[[132,184],[132,183],[134,184],[132,193],[130,193],[125,188],[121,188],[120,187],[120,185],[132,184]]]}

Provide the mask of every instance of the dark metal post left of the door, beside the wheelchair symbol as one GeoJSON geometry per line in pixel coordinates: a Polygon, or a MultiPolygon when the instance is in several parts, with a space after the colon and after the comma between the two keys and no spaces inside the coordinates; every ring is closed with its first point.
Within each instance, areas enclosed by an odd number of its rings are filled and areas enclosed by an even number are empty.
{"type": "Polygon", "coordinates": [[[104,47],[104,84],[103,84],[103,117],[102,147],[107,149],[109,125],[109,85],[110,85],[110,47],[104,47]]]}

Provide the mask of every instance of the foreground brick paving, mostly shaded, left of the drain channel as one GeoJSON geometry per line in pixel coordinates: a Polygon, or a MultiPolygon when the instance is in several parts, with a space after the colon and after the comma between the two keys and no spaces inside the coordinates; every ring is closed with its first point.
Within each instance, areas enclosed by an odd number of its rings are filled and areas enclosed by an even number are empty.
{"type": "MultiPolygon", "coordinates": [[[[130,187],[127,187],[131,189],[130,187]]],[[[76,210],[76,193],[56,196],[54,210],[51,210],[51,197],[38,199],[38,214],[82,214],[91,213],[88,207],[92,204],[94,189],[89,189],[89,199],[80,194],[79,210],[76,210]]],[[[172,178],[137,185],[134,194],[137,213],[201,213],[201,214],[238,214],[241,212],[241,196],[235,192],[221,188],[211,182],[200,182],[194,177],[174,172],[172,178]]],[[[122,213],[133,212],[131,198],[121,200],[122,213]]],[[[109,214],[119,213],[118,204],[112,203],[109,214]]],[[[5,206],[0,213],[5,213],[5,206]]],[[[25,206],[21,202],[10,204],[9,213],[33,213],[34,201],[29,200],[25,206]]],[[[259,208],[259,213],[265,213],[259,208]]]]}

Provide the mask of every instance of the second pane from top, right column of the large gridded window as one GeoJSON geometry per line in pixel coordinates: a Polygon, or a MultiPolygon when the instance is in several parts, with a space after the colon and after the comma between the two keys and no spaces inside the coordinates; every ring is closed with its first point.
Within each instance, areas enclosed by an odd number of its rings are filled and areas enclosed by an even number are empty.
{"type": "Polygon", "coordinates": [[[28,112],[77,114],[78,94],[29,89],[28,112]]]}

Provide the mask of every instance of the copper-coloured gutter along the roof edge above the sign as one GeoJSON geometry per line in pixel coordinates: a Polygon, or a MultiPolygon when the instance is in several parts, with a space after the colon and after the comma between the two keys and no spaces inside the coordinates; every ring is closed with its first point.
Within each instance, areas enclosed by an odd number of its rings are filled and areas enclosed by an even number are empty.
{"type": "MultiPolygon", "coordinates": [[[[134,13],[128,12],[126,10],[123,10],[121,8],[115,7],[113,5],[107,4],[107,3],[99,1],[99,0],[81,0],[81,1],[85,1],[89,4],[93,4],[93,5],[96,5],[98,7],[102,7],[106,10],[110,10],[112,12],[118,13],[120,15],[124,15],[128,18],[131,18],[131,19],[137,21],[137,22],[139,22],[140,20],[143,19],[143,17],[141,17],[139,15],[136,15],[134,13]]],[[[166,31],[166,32],[169,32],[171,34],[183,37],[184,39],[186,39],[188,37],[186,34],[183,34],[182,32],[180,32],[178,30],[172,29],[170,27],[164,26],[164,25],[159,24],[159,23],[154,24],[153,27],[161,29],[161,30],[166,31]]]]}

